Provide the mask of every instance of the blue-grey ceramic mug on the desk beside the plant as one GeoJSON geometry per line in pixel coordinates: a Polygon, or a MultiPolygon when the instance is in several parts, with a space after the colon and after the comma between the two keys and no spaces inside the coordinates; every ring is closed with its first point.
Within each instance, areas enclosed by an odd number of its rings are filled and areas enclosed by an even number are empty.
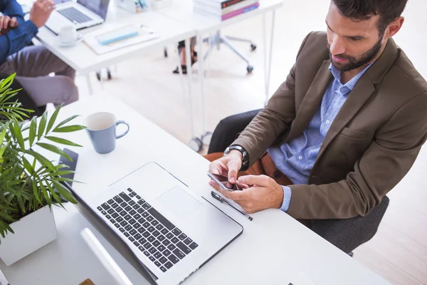
{"type": "Polygon", "coordinates": [[[129,124],[123,120],[117,120],[115,115],[107,112],[94,113],[83,121],[90,142],[97,153],[108,153],[115,149],[116,140],[129,132],[129,124]],[[127,125],[127,130],[121,135],[116,134],[117,125],[127,125]]]}

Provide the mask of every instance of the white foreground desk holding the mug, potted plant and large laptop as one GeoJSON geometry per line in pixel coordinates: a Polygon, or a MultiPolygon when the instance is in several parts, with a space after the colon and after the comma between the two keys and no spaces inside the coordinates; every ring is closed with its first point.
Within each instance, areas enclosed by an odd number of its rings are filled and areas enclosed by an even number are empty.
{"type": "MultiPolygon", "coordinates": [[[[185,284],[288,284],[300,271],[317,285],[388,284],[279,209],[253,214],[253,222],[249,222],[220,204],[210,195],[206,176],[209,162],[117,99],[103,95],[73,103],[62,110],[58,121],[75,113],[88,115],[100,110],[127,120],[130,132],[117,140],[116,150],[108,155],[98,155],[84,131],[64,135],[84,145],[73,149],[80,154],[75,180],[86,183],[74,185],[80,195],[96,195],[144,163],[156,161],[244,227],[241,237],[196,271],[185,284]]],[[[82,120],[78,118],[74,123],[82,120]]],[[[97,285],[114,284],[83,242],[80,231],[85,227],[95,233],[133,284],[146,284],[72,204],[66,208],[68,212],[55,209],[58,239],[12,266],[6,267],[0,262],[0,269],[12,285],[76,285],[86,278],[97,285]]]]}

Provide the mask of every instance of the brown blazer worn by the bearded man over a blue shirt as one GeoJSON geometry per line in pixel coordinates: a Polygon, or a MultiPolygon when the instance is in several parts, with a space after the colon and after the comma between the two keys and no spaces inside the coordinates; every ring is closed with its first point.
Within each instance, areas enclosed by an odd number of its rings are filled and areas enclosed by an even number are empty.
{"type": "MultiPolygon", "coordinates": [[[[300,136],[332,81],[327,36],[310,33],[286,81],[233,144],[252,165],[271,145],[300,136]]],[[[406,175],[427,134],[427,83],[393,39],[334,119],[308,185],[292,185],[297,219],[365,215],[406,175]]]]}

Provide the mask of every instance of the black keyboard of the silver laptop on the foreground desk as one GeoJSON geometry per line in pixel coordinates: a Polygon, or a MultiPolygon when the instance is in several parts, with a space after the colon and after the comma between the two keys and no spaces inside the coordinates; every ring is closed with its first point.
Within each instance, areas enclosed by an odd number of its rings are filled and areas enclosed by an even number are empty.
{"type": "Polygon", "coordinates": [[[199,247],[132,189],[127,191],[97,209],[160,270],[166,272],[199,247]]]}

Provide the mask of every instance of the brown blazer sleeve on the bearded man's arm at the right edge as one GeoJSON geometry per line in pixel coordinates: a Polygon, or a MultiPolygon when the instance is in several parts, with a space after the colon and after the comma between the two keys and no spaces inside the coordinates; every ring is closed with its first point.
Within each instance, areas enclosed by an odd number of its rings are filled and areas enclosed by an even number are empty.
{"type": "Polygon", "coordinates": [[[400,108],[375,135],[354,171],[328,185],[290,185],[288,214],[296,219],[364,216],[411,169],[426,141],[427,93],[400,108]]]}

